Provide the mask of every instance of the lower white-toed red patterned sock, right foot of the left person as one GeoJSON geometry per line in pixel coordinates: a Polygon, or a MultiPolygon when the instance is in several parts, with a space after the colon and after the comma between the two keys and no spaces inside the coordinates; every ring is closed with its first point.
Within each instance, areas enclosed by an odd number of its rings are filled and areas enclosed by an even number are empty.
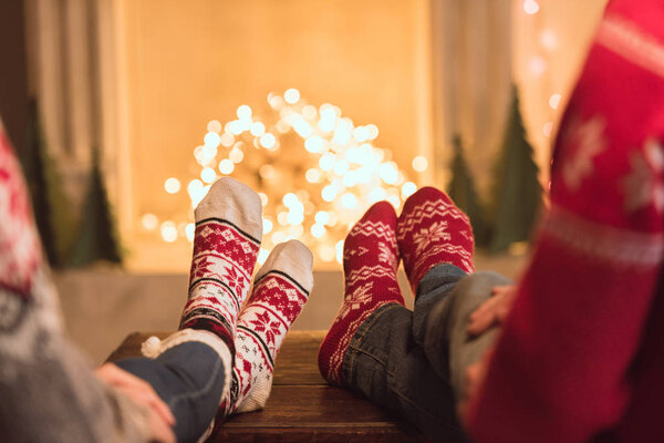
{"type": "Polygon", "coordinates": [[[302,243],[277,245],[256,274],[238,319],[236,364],[222,403],[226,416],[262,409],[270,395],[274,359],[313,286],[313,257],[302,243]]]}

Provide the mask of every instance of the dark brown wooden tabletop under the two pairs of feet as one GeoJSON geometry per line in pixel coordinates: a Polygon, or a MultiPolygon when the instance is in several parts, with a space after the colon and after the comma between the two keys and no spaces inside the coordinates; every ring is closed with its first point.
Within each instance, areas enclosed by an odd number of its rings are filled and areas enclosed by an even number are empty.
{"type": "MultiPolygon", "coordinates": [[[[108,357],[138,354],[149,336],[135,332],[108,357]]],[[[262,411],[234,415],[208,442],[428,442],[371,402],[329,385],[318,370],[324,332],[291,331],[276,361],[270,399],[262,411]]]]}

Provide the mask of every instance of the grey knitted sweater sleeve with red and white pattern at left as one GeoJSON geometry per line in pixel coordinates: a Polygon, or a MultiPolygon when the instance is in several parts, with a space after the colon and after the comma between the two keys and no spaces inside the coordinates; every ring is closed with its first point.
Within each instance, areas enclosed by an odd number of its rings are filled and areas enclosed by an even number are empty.
{"type": "Polygon", "coordinates": [[[25,184],[0,122],[0,430],[7,442],[144,442],[145,411],[64,339],[25,184]]]}

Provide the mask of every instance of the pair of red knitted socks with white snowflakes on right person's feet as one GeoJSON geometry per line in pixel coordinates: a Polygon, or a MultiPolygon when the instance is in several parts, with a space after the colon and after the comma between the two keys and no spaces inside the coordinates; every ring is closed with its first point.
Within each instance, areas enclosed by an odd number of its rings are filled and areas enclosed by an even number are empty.
{"type": "Polygon", "coordinates": [[[344,384],[343,359],[360,324],[382,306],[404,305],[396,280],[400,256],[416,293],[419,280],[438,264],[471,272],[473,248],[468,217],[436,188],[413,194],[398,218],[386,202],[369,208],[344,241],[344,300],[319,351],[323,377],[344,384]]]}

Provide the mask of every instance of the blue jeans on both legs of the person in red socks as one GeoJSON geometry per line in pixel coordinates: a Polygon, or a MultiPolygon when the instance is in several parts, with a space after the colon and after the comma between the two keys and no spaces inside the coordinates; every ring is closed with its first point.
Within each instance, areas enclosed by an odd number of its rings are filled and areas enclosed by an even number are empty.
{"type": "Polygon", "coordinates": [[[413,311],[386,305],[360,326],[343,361],[343,379],[374,403],[435,441],[464,442],[456,400],[465,370],[494,342],[496,330],[471,339],[468,316],[510,281],[495,272],[466,275],[438,265],[421,280],[413,311]]]}

